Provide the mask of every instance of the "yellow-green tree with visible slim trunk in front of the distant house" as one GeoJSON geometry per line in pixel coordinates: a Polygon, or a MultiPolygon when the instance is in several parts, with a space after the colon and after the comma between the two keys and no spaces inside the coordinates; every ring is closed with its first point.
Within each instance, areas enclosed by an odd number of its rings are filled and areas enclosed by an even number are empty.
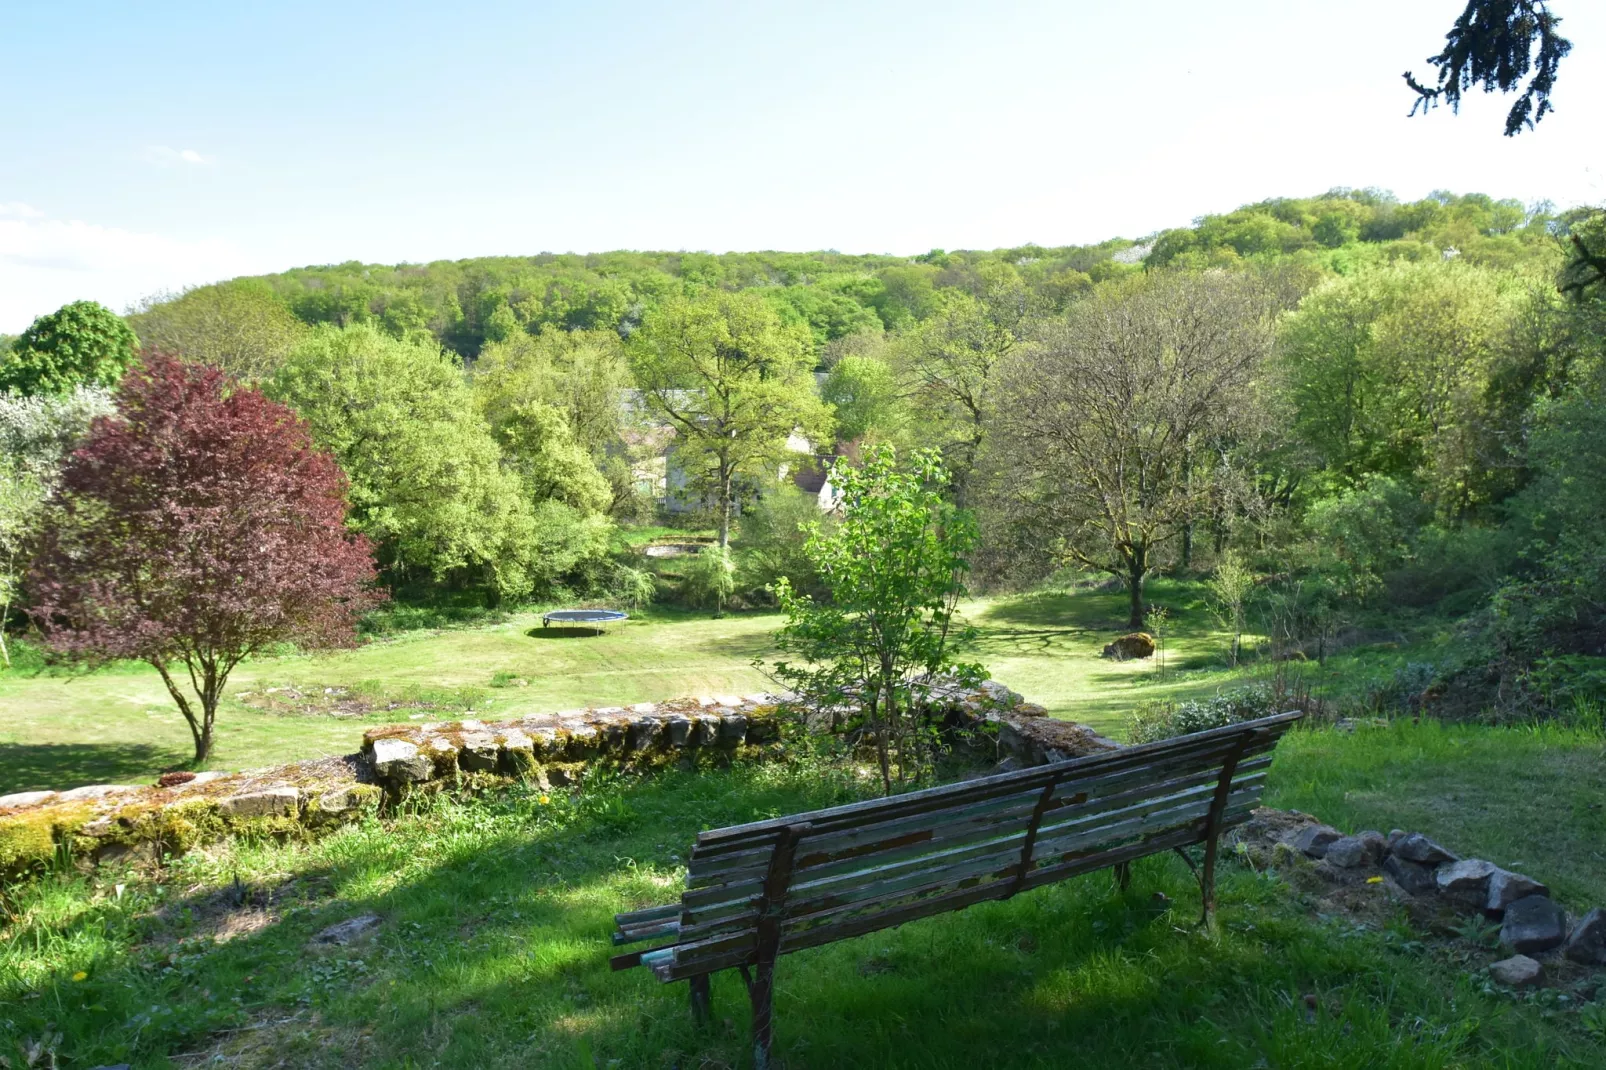
{"type": "Polygon", "coordinates": [[[760,479],[787,456],[793,432],[830,426],[805,334],[755,294],[713,292],[658,305],[631,336],[647,406],[676,432],[692,485],[711,500],[719,545],[731,545],[739,479],[760,479]]]}

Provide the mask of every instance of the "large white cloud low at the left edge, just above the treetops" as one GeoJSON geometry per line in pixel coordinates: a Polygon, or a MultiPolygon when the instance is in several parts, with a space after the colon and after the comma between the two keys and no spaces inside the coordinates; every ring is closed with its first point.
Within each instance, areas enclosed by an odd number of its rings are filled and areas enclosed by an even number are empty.
{"type": "Polygon", "coordinates": [[[233,243],[50,218],[0,202],[0,333],[71,300],[122,312],[141,297],[260,270],[233,243]]]}

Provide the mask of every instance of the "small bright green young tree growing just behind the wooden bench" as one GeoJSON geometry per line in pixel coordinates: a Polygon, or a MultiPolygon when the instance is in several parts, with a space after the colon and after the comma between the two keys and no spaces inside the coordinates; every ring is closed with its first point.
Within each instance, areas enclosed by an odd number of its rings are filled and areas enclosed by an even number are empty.
{"type": "Polygon", "coordinates": [[[907,468],[893,447],[859,468],[838,463],[842,522],[816,529],[806,546],[829,598],[808,598],[785,578],[776,585],[787,614],[776,644],[797,660],[777,662],[774,675],[822,709],[859,710],[853,728],[874,744],[888,794],[895,771],[903,782],[925,765],[925,689],[944,673],[981,675],[954,660],[968,638],[956,611],[976,529],[943,496],[948,479],[931,450],[911,453],[907,468]]]}

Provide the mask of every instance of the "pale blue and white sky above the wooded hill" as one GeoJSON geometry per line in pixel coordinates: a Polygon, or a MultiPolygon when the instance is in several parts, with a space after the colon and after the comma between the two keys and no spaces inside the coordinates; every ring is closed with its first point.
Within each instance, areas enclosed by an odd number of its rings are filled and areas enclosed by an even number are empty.
{"type": "Polygon", "coordinates": [[[1278,194],[1606,201],[1558,112],[1407,120],[1463,0],[0,3],[0,331],[340,260],[1065,244],[1278,194]]]}

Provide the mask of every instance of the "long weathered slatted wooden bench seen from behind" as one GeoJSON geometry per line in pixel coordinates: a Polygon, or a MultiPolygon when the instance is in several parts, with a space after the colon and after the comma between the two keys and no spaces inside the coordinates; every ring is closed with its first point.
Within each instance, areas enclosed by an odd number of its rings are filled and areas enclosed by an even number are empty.
{"type": "Polygon", "coordinates": [[[691,983],[739,969],[753,1051],[768,1067],[776,959],[1177,850],[1216,911],[1217,837],[1259,803],[1272,747],[1299,720],[1278,713],[1090,758],[702,832],[678,903],[617,914],[615,970],[646,966],[691,983]],[[1182,848],[1203,843],[1201,866],[1182,848]],[[752,969],[752,972],[748,972],[752,969]]]}

